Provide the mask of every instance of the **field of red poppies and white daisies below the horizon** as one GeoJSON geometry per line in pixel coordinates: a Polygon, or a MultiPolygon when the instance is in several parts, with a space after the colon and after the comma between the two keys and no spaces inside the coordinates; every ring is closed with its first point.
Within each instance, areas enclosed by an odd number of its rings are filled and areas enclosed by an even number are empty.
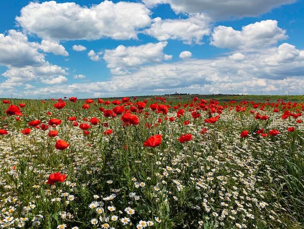
{"type": "Polygon", "coordinates": [[[0,228],[303,228],[304,104],[0,103],[0,228]]]}

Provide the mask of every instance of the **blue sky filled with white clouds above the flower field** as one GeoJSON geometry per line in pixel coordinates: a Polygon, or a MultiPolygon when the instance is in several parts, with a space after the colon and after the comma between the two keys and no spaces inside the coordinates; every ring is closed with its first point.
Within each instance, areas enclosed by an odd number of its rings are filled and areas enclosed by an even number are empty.
{"type": "Polygon", "coordinates": [[[4,0],[0,97],[304,94],[303,0],[4,0]]]}

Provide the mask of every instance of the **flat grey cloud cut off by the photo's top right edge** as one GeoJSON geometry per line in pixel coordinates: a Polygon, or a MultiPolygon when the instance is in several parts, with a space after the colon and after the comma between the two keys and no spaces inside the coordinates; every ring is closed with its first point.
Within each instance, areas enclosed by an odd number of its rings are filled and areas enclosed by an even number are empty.
{"type": "Polygon", "coordinates": [[[176,13],[207,12],[214,20],[229,17],[256,16],[296,0],[142,0],[148,7],[168,3],[176,13]]]}

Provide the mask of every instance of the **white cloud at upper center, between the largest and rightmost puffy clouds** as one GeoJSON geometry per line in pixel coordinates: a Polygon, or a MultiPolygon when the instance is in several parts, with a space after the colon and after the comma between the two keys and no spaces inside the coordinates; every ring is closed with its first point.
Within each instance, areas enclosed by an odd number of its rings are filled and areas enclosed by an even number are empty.
{"type": "Polygon", "coordinates": [[[203,36],[209,35],[209,18],[204,14],[193,14],[186,19],[153,19],[144,33],[159,41],[182,40],[185,44],[203,44],[203,36]]]}

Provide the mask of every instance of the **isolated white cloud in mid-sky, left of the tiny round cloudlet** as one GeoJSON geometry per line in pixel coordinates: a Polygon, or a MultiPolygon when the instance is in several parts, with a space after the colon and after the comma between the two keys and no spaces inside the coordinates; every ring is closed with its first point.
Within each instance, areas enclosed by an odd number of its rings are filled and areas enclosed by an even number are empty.
{"type": "Polygon", "coordinates": [[[128,69],[137,68],[145,63],[170,60],[172,56],[163,53],[167,44],[167,42],[159,42],[129,47],[120,45],[116,49],[105,50],[103,59],[108,63],[107,67],[111,68],[113,74],[120,75],[128,72],[128,69]]]}

